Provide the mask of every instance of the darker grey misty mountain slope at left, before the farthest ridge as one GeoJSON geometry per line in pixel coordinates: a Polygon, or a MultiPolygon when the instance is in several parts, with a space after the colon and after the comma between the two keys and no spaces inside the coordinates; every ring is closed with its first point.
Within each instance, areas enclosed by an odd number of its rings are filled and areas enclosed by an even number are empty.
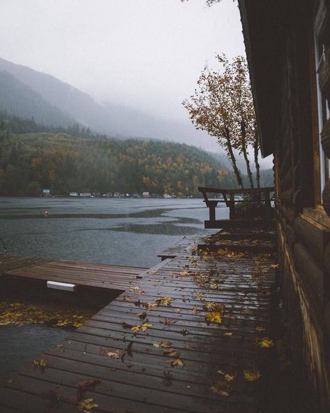
{"type": "Polygon", "coordinates": [[[69,126],[75,119],[51,106],[40,94],[6,71],[0,71],[0,111],[34,118],[41,124],[69,126]]]}

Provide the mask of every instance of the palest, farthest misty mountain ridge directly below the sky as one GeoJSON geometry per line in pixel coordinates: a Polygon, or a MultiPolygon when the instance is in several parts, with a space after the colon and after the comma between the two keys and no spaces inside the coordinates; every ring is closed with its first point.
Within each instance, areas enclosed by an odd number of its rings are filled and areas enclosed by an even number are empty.
{"type": "MultiPolygon", "coordinates": [[[[7,71],[17,80],[40,94],[50,106],[59,108],[76,122],[89,126],[96,133],[118,138],[144,137],[175,140],[190,145],[214,145],[215,139],[207,133],[196,131],[187,118],[173,121],[144,113],[143,110],[126,108],[110,101],[97,103],[89,94],[27,66],[0,59],[0,70],[7,71]]],[[[1,96],[0,96],[1,99],[1,96]]],[[[9,110],[7,110],[10,113],[9,110]]],[[[15,115],[20,115],[15,113],[15,115]]],[[[21,114],[25,116],[24,114],[21,114]]],[[[35,116],[36,117],[36,116],[35,116]]]]}

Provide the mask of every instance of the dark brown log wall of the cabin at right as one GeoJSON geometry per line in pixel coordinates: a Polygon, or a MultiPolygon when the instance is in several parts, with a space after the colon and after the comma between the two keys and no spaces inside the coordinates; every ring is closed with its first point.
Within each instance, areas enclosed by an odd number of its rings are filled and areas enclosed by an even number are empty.
{"type": "Polygon", "coordinates": [[[297,25],[293,22],[287,27],[283,51],[281,113],[274,162],[280,281],[291,320],[292,356],[296,365],[305,361],[301,374],[307,372],[310,377],[315,399],[320,400],[318,411],[328,412],[330,219],[315,209],[318,143],[313,133],[315,73],[311,73],[310,61],[313,15],[295,17],[297,25]]]}

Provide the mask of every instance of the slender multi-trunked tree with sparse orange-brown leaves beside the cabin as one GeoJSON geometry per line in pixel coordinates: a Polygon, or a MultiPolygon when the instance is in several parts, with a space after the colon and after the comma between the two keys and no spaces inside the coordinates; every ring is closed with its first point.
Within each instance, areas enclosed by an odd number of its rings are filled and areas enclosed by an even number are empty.
{"type": "Polygon", "coordinates": [[[188,110],[196,129],[207,131],[225,148],[241,188],[243,182],[234,150],[243,154],[250,187],[253,187],[248,159],[249,147],[253,147],[257,187],[260,187],[257,161],[260,145],[246,60],[238,56],[230,62],[225,55],[217,55],[216,59],[220,70],[211,71],[207,65],[204,66],[194,94],[189,100],[183,101],[183,106],[188,110]]]}

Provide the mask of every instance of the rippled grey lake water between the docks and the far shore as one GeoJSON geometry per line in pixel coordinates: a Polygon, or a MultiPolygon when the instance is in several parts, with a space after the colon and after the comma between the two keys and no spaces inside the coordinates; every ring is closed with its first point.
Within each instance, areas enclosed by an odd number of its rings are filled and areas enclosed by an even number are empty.
{"type": "Polygon", "coordinates": [[[8,254],[73,261],[150,267],[183,236],[210,233],[207,217],[202,199],[0,197],[8,254]]]}

